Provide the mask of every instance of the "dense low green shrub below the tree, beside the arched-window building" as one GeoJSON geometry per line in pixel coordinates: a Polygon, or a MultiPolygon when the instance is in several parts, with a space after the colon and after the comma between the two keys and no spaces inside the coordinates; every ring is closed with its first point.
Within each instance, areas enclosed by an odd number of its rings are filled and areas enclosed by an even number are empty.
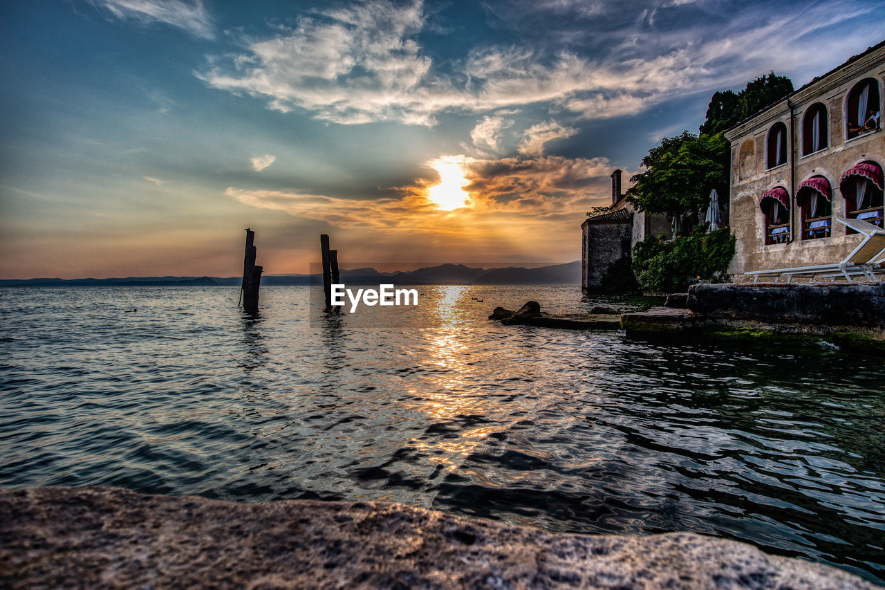
{"type": "Polygon", "coordinates": [[[696,231],[671,242],[649,236],[634,246],[633,268],[644,291],[680,292],[691,279],[724,280],[734,255],[735,237],[727,229],[696,231]]]}

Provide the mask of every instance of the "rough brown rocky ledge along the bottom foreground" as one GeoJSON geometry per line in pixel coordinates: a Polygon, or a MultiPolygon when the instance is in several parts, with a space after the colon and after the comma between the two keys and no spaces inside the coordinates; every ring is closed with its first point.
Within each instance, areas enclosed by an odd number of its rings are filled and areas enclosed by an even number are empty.
{"type": "Polygon", "coordinates": [[[0,491],[0,586],[873,588],[691,533],[554,534],[381,502],[0,491]]]}

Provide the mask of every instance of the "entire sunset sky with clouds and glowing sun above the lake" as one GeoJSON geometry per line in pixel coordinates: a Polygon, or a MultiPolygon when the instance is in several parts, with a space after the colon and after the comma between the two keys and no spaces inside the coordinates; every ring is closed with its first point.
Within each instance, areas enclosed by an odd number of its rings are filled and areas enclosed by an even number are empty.
{"type": "Polygon", "coordinates": [[[0,278],[581,259],[712,93],[798,88],[881,0],[0,3],[0,278]],[[629,185],[629,182],[625,182],[629,185]]]}

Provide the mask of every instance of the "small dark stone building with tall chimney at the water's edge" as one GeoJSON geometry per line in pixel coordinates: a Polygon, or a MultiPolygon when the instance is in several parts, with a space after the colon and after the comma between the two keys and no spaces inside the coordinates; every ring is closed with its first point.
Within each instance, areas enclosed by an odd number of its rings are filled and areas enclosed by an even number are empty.
{"type": "Polygon", "coordinates": [[[612,205],[589,214],[581,223],[581,290],[599,289],[612,263],[630,259],[636,242],[649,234],[670,235],[670,224],[661,215],[636,211],[621,193],[621,170],[612,172],[612,205]]]}

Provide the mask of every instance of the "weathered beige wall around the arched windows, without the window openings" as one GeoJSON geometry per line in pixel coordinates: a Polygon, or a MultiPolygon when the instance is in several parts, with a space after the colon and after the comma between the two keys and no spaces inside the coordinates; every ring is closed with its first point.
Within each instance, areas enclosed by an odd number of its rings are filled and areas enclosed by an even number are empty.
{"type": "Polygon", "coordinates": [[[846,111],[850,90],[865,78],[879,82],[880,105],[885,97],[885,47],[879,46],[824,75],[815,82],[727,132],[731,141],[730,222],[737,239],[735,258],[729,272],[735,281],[748,280],[750,270],[828,264],[843,258],[862,239],[848,235],[835,217],[846,217],[846,201],[839,189],[843,173],[862,161],[885,167],[885,129],[846,139],[846,111]],[[827,107],[827,148],[803,155],[803,120],[812,105],[827,107]],[[792,107],[792,108],[790,108],[792,107]],[[794,137],[787,163],[766,169],[766,140],[777,122],[787,127],[787,140],[794,137]],[[794,133],[790,133],[791,126],[794,133]],[[795,160],[795,161],[794,161],[795,160]],[[794,172],[795,167],[795,172],[794,172]],[[802,239],[801,212],[796,203],[798,185],[811,176],[823,176],[832,189],[833,221],[830,237],[802,239]],[[792,201],[791,234],[785,244],[765,244],[766,220],[759,199],[766,190],[782,186],[792,201]]]}

